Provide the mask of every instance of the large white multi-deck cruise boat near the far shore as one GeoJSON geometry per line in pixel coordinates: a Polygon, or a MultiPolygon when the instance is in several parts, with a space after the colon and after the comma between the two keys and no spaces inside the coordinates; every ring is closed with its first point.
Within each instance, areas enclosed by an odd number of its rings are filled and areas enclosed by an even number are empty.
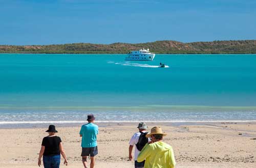
{"type": "Polygon", "coordinates": [[[155,53],[150,52],[150,49],[140,49],[139,51],[132,51],[127,54],[125,61],[153,61],[155,53]]]}

